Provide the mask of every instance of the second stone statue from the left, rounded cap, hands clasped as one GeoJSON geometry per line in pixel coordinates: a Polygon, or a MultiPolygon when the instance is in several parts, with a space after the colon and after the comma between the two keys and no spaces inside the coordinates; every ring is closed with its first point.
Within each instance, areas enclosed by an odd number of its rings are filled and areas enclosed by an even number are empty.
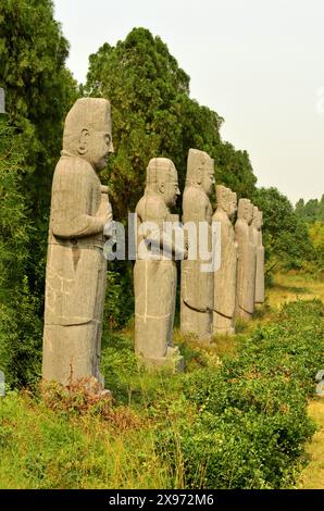
{"type": "Polygon", "coordinates": [[[176,299],[175,257],[185,254],[165,229],[178,223],[170,209],[179,196],[177,171],[166,158],[153,158],[147,167],[144,197],[136,207],[137,258],[134,267],[135,351],[148,366],[180,369],[182,357],[172,347],[176,299]],[[163,252],[164,249],[164,252],[163,252]]]}

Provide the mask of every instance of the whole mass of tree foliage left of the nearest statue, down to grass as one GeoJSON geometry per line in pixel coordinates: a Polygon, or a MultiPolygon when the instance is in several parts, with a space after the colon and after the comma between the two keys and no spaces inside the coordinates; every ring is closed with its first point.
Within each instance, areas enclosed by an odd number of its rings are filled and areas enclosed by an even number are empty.
{"type": "Polygon", "coordinates": [[[25,385],[39,370],[52,173],[64,116],[76,98],[68,43],[50,0],[1,0],[1,365],[25,385]],[[7,347],[7,350],[5,350],[7,347]]]}

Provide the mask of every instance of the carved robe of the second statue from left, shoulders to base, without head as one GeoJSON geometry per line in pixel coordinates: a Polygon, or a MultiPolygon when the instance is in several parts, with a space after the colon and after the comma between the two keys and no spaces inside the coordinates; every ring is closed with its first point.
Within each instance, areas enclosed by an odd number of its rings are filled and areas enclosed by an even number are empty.
{"type": "Polygon", "coordinates": [[[162,242],[172,254],[172,240],[163,235],[163,222],[174,221],[159,194],[147,190],[136,207],[137,227],[153,222],[155,230],[138,235],[138,252],[134,266],[135,351],[152,364],[163,364],[172,354],[172,332],[176,299],[176,263],[162,256],[162,242]],[[147,252],[140,253],[140,245],[147,252]],[[159,254],[153,246],[161,249],[159,254]],[[141,259],[141,258],[146,259],[141,259]]]}

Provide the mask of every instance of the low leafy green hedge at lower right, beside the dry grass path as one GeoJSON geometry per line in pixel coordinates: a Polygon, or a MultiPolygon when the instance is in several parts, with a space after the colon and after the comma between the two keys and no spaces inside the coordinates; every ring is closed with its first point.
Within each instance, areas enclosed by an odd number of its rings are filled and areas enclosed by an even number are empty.
{"type": "Polygon", "coordinates": [[[262,489],[294,482],[314,432],[306,406],[324,365],[323,334],[320,301],[290,303],[237,358],[185,378],[196,416],[169,426],[158,441],[174,473],[182,464],[185,487],[262,489]]]}

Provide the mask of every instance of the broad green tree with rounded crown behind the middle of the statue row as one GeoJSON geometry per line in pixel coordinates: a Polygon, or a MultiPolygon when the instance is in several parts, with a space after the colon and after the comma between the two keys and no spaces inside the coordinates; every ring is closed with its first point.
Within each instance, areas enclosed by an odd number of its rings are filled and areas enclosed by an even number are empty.
{"type": "Polygon", "coordinates": [[[150,158],[171,158],[184,187],[190,147],[215,159],[217,183],[232,185],[239,196],[254,190],[248,154],[222,142],[222,117],[190,99],[188,75],[149,30],[134,28],[124,41],[90,55],[85,92],[112,103],[115,155],[105,177],[119,220],[134,211],[150,158]]]}

